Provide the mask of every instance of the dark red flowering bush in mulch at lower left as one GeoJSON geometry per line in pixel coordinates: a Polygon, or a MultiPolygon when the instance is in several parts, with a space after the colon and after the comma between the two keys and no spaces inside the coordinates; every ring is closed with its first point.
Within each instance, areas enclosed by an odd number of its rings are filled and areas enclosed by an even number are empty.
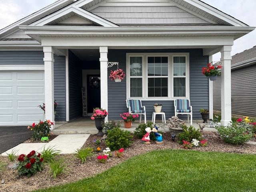
{"type": "Polygon", "coordinates": [[[43,158],[41,154],[31,151],[28,155],[21,154],[18,157],[18,174],[32,176],[42,170],[43,158]]]}

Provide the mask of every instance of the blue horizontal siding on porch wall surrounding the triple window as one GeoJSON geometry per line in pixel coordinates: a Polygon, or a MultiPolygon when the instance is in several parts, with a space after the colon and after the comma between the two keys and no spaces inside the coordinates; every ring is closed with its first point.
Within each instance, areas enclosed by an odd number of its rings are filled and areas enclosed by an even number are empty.
{"type": "MultiPolygon", "coordinates": [[[[201,119],[200,108],[209,108],[208,78],[202,74],[202,67],[208,63],[208,56],[203,56],[202,49],[161,49],[161,50],[109,50],[108,60],[119,62],[119,68],[126,73],[126,53],[190,53],[190,101],[193,107],[193,118],[201,119]]],[[[115,68],[108,68],[108,74],[115,68]]],[[[108,78],[108,112],[110,120],[121,120],[120,114],[127,112],[126,108],[126,78],[120,83],[112,82],[108,78]]],[[[163,104],[162,111],[166,118],[174,116],[174,102],[172,100],[142,101],[146,107],[147,119],[151,120],[154,103],[163,104]]],[[[187,118],[184,116],[184,118],[187,118]]]]}

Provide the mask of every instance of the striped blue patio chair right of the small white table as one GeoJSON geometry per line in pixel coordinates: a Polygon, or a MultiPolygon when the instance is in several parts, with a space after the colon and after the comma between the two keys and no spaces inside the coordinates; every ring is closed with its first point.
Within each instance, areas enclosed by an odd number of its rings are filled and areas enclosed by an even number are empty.
{"type": "Polygon", "coordinates": [[[192,106],[190,106],[189,99],[176,99],[174,100],[174,114],[177,117],[178,114],[187,114],[188,115],[188,123],[189,123],[189,115],[190,115],[190,125],[192,125],[192,106]]]}

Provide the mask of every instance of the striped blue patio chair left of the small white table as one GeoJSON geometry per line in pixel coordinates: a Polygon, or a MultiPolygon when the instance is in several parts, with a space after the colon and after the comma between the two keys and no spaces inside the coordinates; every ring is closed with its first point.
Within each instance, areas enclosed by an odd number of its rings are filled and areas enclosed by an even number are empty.
{"type": "Polygon", "coordinates": [[[138,100],[138,99],[126,100],[126,107],[128,108],[129,113],[140,115],[140,123],[141,123],[142,115],[144,115],[145,124],[147,123],[146,108],[145,106],[142,106],[141,100],[138,100]]]}

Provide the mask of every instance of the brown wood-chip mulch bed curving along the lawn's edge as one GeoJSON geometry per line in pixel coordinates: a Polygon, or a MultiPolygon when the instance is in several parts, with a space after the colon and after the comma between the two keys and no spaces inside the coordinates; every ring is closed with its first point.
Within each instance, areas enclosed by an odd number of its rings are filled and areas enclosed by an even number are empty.
{"type": "MultiPolygon", "coordinates": [[[[91,135],[84,147],[96,147],[93,143],[94,139],[100,139],[101,137],[96,135],[91,135]]],[[[61,185],[65,183],[75,182],[77,180],[94,176],[98,173],[101,173],[112,166],[115,166],[128,158],[132,158],[138,154],[143,154],[152,150],[161,150],[161,149],[182,149],[181,145],[177,142],[171,141],[171,133],[166,132],[163,135],[164,143],[163,144],[142,144],[141,140],[134,139],[134,142],[130,148],[127,148],[124,152],[122,158],[112,157],[107,160],[106,164],[101,164],[96,160],[98,154],[88,158],[88,160],[81,164],[73,154],[61,155],[61,158],[65,159],[67,165],[67,170],[65,174],[58,176],[55,180],[51,178],[49,174],[49,168],[45,165],[42,172],[38,172],[36,175],[28,178],[26,176],[18,177],[17,170],[10,170],[6,168],[4,172],[0,174],[0,181],[2,178],[5,179],[4,184],[0,184],[1,192],[25,192],[36,190],[39,188],[46,188],[50,186],[61,185]]],[[[222,142],[219,136],[216,133],[204,132],[204,138],[208,140],[208,146],[193,148],[192,150],[198,151],[214,151],[214,152],[230,152],[230,153],[239,153],[239,154],[256,154],[256,146],[243,144],[241,146],[234,146],[222,142]]],[[[104,142],[101,142],[100,148],[105,149],[106,145],[104,142]]],[[[0,157],[0,161],[5,164],[9,164],[9,160],[6,157],[0,157]]]]}

